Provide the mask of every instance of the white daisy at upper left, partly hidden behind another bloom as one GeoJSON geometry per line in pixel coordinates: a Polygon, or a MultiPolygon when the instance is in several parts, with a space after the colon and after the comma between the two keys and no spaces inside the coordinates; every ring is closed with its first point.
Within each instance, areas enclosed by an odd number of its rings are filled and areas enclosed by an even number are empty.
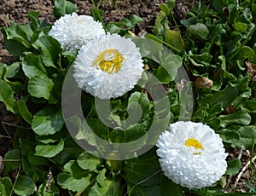
{"type": "Polygon", "coordinates": [[[55,21],[49,36],[61,43],[64,50],[76,51],[88,41],[104,35],[102,23],[93,20],[90,15],[65,14],[55,21]]]}

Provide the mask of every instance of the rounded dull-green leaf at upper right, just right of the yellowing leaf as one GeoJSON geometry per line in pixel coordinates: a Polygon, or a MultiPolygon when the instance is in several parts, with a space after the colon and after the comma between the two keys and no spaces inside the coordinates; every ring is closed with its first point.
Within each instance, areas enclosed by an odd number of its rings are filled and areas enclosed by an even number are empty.
{"type": "Polygon", "coordinates": [[[197,39],[206,40],[210,32],[206,25],[196,23],[195,25],[189,26],[189,33],[197,39]]]}

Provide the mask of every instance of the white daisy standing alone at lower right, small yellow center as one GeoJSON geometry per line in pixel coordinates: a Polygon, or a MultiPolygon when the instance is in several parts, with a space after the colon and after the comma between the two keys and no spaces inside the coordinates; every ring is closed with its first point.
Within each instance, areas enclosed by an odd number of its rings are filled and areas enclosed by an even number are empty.
{"type": "Polygon", "coordinates": [[[156,144],[164,174],[189,188],[209,187],[227,169],[224,145],[208,125],[194,122],[171,124],[156,144]]]}

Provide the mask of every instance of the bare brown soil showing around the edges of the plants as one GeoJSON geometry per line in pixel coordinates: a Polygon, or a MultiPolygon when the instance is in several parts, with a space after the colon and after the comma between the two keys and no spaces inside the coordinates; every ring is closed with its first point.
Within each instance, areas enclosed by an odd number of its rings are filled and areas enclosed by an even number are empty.
{"type": "MultiPolygon", "coordinates": [[[[166,3],[166,1],[167,0],[103,0],[101,1],[102,3],[100,4],[99,9],[104,10],[103,20],[105,23],[119,21],[124,17],[129,18],[131,14],[137,14],[142,17],[144,22],[138,24],[133,30],[139,35],[143,32],[152,31],[156,14],[160,11],[160,3],[166,3]]],[[[71,0],[71,2],[78,5],[79,14],[90,14],[90,9],[94,8],[94,5],[88,0],[71,0]]],[[[95,2],[98,3],[100,1],[95,2]]],[[[192,0],[176,1],[174,15],[177,21],[186,17],[186,13],[191,8],[191,2],[192,0]]],[[[1,0],[0,7],[0,27],[9,26],[9,20],[14,20],[19,24],[26,24],[28,21],[26,15],[31,10],[40,11],[40,20],[46,20],[50,24],[54,24],[55,22],[55,17],[52,15],[54,0],[1,0]]],[[[15,59],[15,56],[10,55],[9,52],[4,49],[3,35],[0,33],[0,62],[9,65],[14,62],[15,59]]],[[[20,119],[6,111],[3,103],[0,102],[0,160],[5,153],[12,149],[15,128],[18,126],[19,121],[20,119]]],[[[235,159],[239,156],[239,149],[231,148],[229,154],[228,159],[235,159]]],[[[245,170],[241,170],[240,178],[236,175],[227,179],[228,184],[225,187],[227,192],[242,193],[247,191],[248,188],[246,182],[249,182],[251,179],[250,176],[256,176],[255,170],[250,169],[250,165],[246,167],[250,159],[249,152],[244,151],[241,153],[242,167],[245,167],[245,170]],[[239,181],[236,182],[238,178],[239,181]]],[[[255,164],[253,166],[255,167],[255,164]]],[[[256,179],[251,183],[255,186],[256,179]]]]}

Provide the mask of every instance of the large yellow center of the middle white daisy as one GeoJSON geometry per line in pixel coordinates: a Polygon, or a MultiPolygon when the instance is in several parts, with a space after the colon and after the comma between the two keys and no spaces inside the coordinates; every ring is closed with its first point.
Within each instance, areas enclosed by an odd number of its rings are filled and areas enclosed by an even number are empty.
{"type": "Polygon", "coordinates": [[[119,72],[121,64],[125,57],[116,49],[105,49],[100,55],[96,57],[93,65],[103,72],[119,72]]]}

